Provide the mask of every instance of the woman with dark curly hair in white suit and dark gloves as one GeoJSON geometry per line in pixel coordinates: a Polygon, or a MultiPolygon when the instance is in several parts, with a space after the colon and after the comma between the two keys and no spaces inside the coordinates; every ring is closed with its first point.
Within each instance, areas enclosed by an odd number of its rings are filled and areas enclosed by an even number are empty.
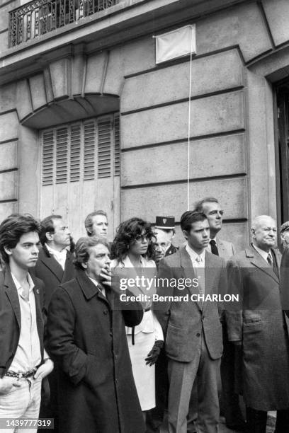
{"type": "MultiPolygon", "coordinates": [[[[127,277],[135,278],[133,294],[149,295],[152,285],[143,284],[137,277],[146,277],[155,282],[157,267],[154,260],[154,234],[151,224],[140,218],[131,218],[118,226],[111,248],[111,267],[125,268],[127,277]]],[[[123,270],[121,270],[123,276],[123,270]]],[[[147,279],[143,279],[147,281],[147,279]]],[[[154,287],[154,285],[153,285],[154,287]]],[[[155,287],[154,287],[155,289],[155,287]]],[[[147,296],[149,299],[150,296],[147,296]]],[[[151,297],[152,298],[152,297],[151,297]]],[[[154,364],[164,345],[164,335],[152,312],[152,300],[142,302],[144,316],[140,325],[126,328],[132,373],[137,387],[142,412],[155,407],[154,364]]]]}

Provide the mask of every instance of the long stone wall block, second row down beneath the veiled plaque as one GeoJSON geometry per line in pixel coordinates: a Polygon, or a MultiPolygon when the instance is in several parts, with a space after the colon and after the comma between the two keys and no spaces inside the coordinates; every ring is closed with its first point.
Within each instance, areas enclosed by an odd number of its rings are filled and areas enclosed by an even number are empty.
{"type": "MultiPolygon", "coordinates": [[[[191,101],[191,137],[244,128],[242,91],[191,101]]],[[[123,148],[188,137],[188,103],[178,103],[121,117],[123,148]]]]}

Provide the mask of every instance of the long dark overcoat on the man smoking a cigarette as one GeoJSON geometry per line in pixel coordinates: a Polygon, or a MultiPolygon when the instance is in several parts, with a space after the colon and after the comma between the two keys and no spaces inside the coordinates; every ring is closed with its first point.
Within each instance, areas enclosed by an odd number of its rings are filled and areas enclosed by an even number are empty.
{"type": "Polygon", "coordinates": [[[120,308],[113,291],[103,296],[81,270],[52,294],[47,333],[58,364],[62,433],[145,431],[125,335],[125,325],[137,325],[143,313],[141,306],[120,308]]]}

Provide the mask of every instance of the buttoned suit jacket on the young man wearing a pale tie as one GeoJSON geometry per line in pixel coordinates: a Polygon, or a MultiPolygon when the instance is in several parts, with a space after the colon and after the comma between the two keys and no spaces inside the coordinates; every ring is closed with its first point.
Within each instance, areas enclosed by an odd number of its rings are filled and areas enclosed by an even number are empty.
{"type": "MultiPolygon", "coordinates": [[[[174,255],[164,258],[159,263],[161,278],[196,278],[186,248],[181,248],[174,255]]],[[[205,253],[205,294],[218,294],[226,291],[225,260],[206,251],[205,253]]],[[[199,304],[191,301],[192,294],[199,294],[198,287],[178,289],[164,284],[158,288],[161,296],[180,296],[188,294],[187,301],[168,301],[154,304],[154,311],[166,335],[165,348],[169,358],[179,362],[191,362],[198,356],[201,344],[200,335],[205,335],[205,342],[212,359],[222,356],[222,325],[217,303],[199,304]]]]}

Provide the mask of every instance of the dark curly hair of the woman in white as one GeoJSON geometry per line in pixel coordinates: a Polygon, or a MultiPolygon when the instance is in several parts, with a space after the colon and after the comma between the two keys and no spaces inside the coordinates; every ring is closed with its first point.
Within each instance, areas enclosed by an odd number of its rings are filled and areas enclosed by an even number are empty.
{"type": "Polygon", "coordinates": [[[128,255],[128,248],[131,243],[133,243],[135,238],[141,235],[144,230],[149,239],[149,246],[147,247],[147,253],[145,256],[149,260],[153,259],[155,254],[155,237],[152,231],[152,225],[137,217],[130,218],[118,226],[116,236],[113,239],[113,245],[111,246],[111,258],[118,260],[118,262],[122,262],[128,255]]]}

